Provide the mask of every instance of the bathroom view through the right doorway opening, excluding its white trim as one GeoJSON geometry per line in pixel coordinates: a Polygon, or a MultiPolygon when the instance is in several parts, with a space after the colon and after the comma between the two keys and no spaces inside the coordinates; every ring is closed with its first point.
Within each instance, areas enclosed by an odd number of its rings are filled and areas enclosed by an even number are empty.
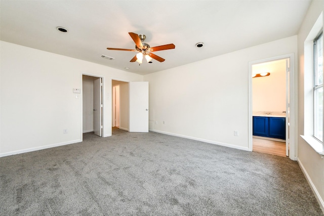
{"type": "Polygon", "coordinates": [[[253,151],[286,156],[286,59],[252,65],[253,151]]]}

